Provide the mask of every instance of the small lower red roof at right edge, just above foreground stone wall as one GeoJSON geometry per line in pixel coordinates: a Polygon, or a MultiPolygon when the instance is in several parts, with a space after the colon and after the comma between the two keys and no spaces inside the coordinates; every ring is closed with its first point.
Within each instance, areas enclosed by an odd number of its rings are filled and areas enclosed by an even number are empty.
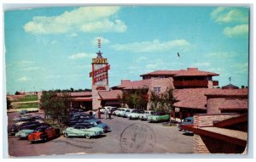
{"type": "Polygon", "coordinates": [[[226,99],[219,109],[248,109],[248,99],[226,99]]]}

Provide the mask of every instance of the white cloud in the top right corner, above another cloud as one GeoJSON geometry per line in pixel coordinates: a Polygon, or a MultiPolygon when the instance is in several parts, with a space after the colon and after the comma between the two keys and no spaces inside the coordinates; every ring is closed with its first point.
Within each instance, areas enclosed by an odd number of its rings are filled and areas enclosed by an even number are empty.
{"type": "Polygon", "coordinates": [[[219,7],[212,11],[211,16],[217,23],[248,22],[248,10],[246,8],[219,7]]]}

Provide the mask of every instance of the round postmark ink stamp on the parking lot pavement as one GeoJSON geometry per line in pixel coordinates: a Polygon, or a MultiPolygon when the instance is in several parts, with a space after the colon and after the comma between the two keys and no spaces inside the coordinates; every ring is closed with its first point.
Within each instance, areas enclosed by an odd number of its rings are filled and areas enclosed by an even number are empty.
{"type": "Polygon", "coordinates": [[[132,124],[121,133],[120,144],[124,153],[152,153],[156,138],[154,131],[145,124],[132,124]]]}

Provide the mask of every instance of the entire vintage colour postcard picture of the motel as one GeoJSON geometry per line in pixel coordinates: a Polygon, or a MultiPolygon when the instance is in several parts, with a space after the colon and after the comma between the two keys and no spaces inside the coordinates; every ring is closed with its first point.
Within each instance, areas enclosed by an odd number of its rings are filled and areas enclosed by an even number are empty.
{"type": "Polygon", "coordinates": [[[9,158],[247,154],[249,13],[246,5],[5,11],[9,158]]]}

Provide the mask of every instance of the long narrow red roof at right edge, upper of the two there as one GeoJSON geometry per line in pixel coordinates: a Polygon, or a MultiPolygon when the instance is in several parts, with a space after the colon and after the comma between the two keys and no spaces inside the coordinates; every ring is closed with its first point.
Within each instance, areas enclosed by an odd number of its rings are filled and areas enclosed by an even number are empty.
{"type": "Polygon", "coordinates": [[[248,96],[248,89],[216,89],[216,91],[207,92],[206,96],[248,96]]]}

